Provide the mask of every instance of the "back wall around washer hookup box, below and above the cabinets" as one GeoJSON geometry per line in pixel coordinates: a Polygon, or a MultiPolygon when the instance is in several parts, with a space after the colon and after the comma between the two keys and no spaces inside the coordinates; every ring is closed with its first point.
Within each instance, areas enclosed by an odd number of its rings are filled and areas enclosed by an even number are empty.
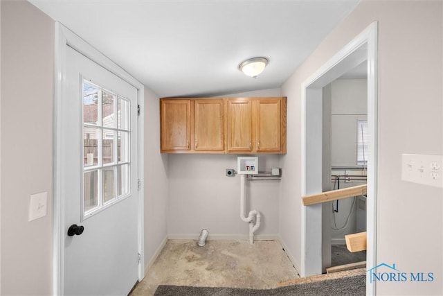
{"type": "MultiPolygon", "coordinates": [[[[280,89],[226,96],[280,96],[280,89]]],[[[240,177],[225,176],[226,168],[237,170],[237,155],[171,154],[168,158],[170,238],[197,238],[207,228],[209,239],[247,239],[248,223],[240,219],[240,177]]],[[[279,159],[279,155],[260,155],[259,170],[280,167],[279,159]]],[[[247,182],[246,188],[246,215],[251,209],[262,214],[257,238],[275,238],[280,182],[247,182]]]]}

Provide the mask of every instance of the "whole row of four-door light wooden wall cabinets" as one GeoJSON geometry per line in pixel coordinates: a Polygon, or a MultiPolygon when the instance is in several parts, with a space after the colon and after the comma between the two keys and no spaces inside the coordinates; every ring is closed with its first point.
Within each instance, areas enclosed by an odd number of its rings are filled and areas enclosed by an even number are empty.
{"type": "Polygon", "coordinates": [[[161,98],[161,153],[286,153],[287,98],[161,98]]]}

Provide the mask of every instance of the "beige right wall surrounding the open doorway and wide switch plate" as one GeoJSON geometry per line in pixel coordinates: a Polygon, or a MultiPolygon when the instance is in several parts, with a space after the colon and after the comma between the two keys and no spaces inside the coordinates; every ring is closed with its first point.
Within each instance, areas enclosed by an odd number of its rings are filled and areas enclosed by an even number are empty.
{"type": "MultiPolygon", "coordinates": [[[[363,1],[284,83],[288,153],[280,234],[300,263],[300,86],[372,21],[379,22],[377,263],[433,272],[432,282],[381,282],[379,295],[441,295],[443,190],[401,181],[401,153],[443,154],[442,1],[363,1]]],[[[369,266],[371,267],[371,266],[369,266]]]]}

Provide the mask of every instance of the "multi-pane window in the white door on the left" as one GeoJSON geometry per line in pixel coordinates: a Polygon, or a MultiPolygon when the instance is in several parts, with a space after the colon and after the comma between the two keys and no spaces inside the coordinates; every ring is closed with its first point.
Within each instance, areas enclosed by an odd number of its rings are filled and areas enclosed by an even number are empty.
{"type": "Polygon", "coordinates": [[[89,80],[83,94],[83,196],[87,218],[129,196],[130,102],[89,80]]]}

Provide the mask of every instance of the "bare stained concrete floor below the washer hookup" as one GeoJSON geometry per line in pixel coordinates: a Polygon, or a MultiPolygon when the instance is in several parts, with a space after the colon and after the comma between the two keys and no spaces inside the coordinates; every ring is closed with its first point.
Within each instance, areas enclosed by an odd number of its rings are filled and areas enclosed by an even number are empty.
{"type": "Polygon", "coordinates": [[[276,288],[298,272],[278,241],[170,240],[131,296],[154,295],[159,285],[276,288]]]}

